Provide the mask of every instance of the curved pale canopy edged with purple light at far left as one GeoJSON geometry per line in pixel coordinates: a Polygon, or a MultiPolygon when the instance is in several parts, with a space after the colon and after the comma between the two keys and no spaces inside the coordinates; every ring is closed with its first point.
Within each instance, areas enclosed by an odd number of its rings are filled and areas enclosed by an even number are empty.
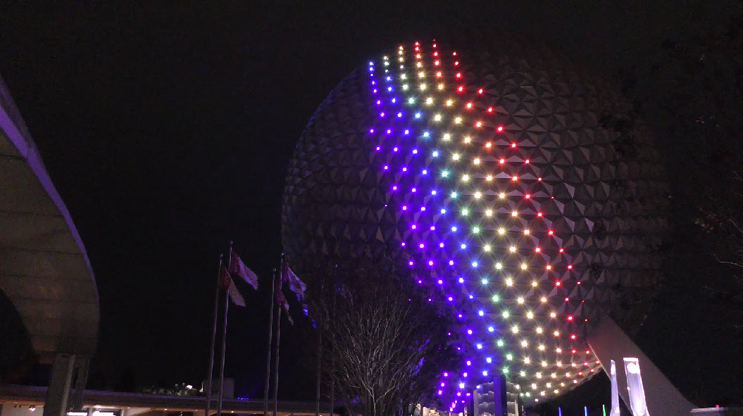
{"type": "Polygon", "coordinates": [[[88,255],[1,78],[0,290],[36,353],[94,354],[100,310],[88,255]]]}

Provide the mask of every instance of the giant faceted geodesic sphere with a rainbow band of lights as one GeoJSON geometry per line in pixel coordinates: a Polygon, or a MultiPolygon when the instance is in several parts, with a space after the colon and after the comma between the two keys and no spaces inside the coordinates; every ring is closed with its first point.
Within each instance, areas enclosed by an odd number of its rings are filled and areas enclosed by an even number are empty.
{"type": "Polygon", "coordinates": [[[658,154],[642,126],[618,146],[603,114],[626,114],[617,94],[541,45],[399,45],[343,79],[302,133],[288,256],[428,268],[421,284],[454,302],[474,351],[432,380],[450,409],[499,375],[527,404],[568,391],[600,370],[592,325],[639,325],[660,278],[658,154]]]}

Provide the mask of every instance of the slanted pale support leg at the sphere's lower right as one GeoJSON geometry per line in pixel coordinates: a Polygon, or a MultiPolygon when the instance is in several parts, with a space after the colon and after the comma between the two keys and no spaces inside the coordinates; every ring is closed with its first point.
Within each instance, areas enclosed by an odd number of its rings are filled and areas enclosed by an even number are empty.
{"type": "Polygon", "coordinates": [[[624,363],[624,357],[635,357],[640,360],[640,371],[643,375],[643,386],[645,386],[650,416],[687,416],[694,408],[694,405],[673,386],[661,370],[640,350],[640,347],[609,316],[603,316],[601,322],[588,336],[588,346],[600,361],[607,377],[611,360],[618,364],[617,390],[628,409],[630,406],[627,377],[623,371],[623,364],[620,364],[624,363]]]}

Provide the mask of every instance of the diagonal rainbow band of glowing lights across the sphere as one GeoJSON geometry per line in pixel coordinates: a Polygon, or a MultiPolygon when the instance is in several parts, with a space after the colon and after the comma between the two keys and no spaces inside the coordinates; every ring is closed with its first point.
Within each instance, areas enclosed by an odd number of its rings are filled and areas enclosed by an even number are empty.
{"type": "MultiPolygon", "coordinates": [[[[470,342],[464,372],[441,374],[438,394],[459,411],[477,383],[505,374],[525,403],[571,389],[599,367],[585,342],[562,214],[542,178],[548,160],[512,134],[502,108],[470,82],[466,56],[437,43],[400,45],[369,61],[377,117],[366,140],[387,157],[391,209],[407,224],[400,246],[429,267],[448,302],[461,305],[470,342]]],[[[520,131],[520,129],[515,129],[520,131]]],[[[422,264],[421,264],[422,263],[422,264]]],[[[418,279],[418,278],[416,278],[418,279]]]]}

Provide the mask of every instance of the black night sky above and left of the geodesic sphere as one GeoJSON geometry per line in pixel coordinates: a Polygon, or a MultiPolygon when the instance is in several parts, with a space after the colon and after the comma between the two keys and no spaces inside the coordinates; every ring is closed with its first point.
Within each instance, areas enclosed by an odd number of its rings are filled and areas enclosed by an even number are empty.
{"type": "MultiPolygon", "coordinates": [[[[96,274],[94,371],[108,387],[126,371],[140,384],[201,380],[218,253],[234,239],[245,263],[270,276],[293,146],[365,59],[415,39],[516,33],[611,76],[664,37],[704,30],[725,13],[655,1],[170,3],[0,5],[0,74],[96,274]]],[[[267,293],[244,293],[249,307],[232,310],[227,375],[253,397],[262,391],[267,293]]],[[[283,336],[282,392],[312,397],[313,376],[299,365],[303,330],[283,336]]]]}

